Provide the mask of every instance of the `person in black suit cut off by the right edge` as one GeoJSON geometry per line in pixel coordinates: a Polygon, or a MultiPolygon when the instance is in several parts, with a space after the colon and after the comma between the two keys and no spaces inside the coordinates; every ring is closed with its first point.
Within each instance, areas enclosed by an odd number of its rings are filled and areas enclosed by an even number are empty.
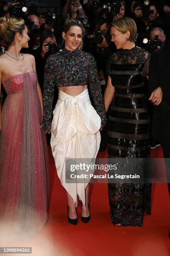
{"type": "Polygon", "coordinates": [[[170,46],[163,46],[151,57],[149,91],[155,105],[152,137],[160,141],[163,148],[170,195],[170,46]]]}

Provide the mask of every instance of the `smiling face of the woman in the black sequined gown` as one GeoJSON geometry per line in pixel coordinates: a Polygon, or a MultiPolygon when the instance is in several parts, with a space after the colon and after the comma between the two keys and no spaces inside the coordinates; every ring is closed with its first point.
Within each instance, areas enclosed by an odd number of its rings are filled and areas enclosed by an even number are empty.
{"type": "Polygon", "coordinates": [[[130,36],[130,32],[127,31],[125,34],[118,31],[116,28],[111,27],[110,34],[112,36],[111,41],[115,43],[116,49],[125,49],[127,44],[127,38],[130,36]]]}

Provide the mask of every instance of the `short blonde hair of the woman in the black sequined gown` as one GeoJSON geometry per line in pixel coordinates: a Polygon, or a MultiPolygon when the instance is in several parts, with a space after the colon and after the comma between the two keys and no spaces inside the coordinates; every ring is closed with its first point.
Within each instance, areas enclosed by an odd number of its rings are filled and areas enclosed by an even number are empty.
{"type": "Polygon", "coordinates": [[[116,28],[122,34],[125,34],[127,31],[129,31],[130,36],[127,40],[131,42],[135,41],[135,37],[137,34],[137,26],[133,19],[129,17],[120,18],[119,20],[112,22],[111,27],[116,28]]]}

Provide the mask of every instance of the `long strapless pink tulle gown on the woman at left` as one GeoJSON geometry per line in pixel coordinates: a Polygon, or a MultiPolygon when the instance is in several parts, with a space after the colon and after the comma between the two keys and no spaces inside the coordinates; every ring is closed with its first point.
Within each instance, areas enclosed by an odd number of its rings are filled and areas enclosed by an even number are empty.
{"type": "Polygon", "coordinates": [[[0,230],[30,238],[47,221],[48,155],[34,71],[2,82],[7,92],[0,133],[0,230]]]}

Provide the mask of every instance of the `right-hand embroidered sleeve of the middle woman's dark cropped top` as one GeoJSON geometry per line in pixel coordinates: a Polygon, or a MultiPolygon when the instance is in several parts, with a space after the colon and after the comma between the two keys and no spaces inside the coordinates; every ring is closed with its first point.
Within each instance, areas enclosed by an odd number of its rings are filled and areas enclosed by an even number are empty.
{"type": "Polygon", "coordinates": [[[96,62],[94,57],[89,54],[88,55],[88,85],[90,88],[90,93],[92,95],[92,99],[95,105],[95,109],[97,111],[97,114],[100,116],[102,120],[102,124],[105,125],[106,123],[106,112],[105,112],[105,104],[102,97],[102,91],[100,87],[100,81],[98,77],[96,62]]]}

